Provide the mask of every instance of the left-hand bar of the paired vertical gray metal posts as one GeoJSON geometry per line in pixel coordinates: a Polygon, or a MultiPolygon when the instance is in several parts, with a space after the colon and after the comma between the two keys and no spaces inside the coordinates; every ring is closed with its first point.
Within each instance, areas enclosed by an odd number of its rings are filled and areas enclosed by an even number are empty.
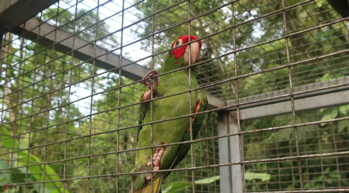
{"type": "MultiPolygon", "coordinates": [[[[218,135],[229,134],[229,119],[228,112],[218,112],[218,135]]],[[[230,142],[229,138],[218,139],[218,150],[219,150],[219,164],[230,163],[230,142]]],[[[231,178],[231,167],[223,166],[219,167],[220,175],[220,192],[227,193],[232,192],[232,178],[231,178]]]]}

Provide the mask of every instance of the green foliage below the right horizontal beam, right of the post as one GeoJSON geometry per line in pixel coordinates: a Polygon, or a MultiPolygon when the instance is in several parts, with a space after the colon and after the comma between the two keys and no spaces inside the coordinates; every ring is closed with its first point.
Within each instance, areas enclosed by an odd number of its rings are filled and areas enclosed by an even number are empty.
{"type": "MultiPolygon", "coordinates": [[[[306,123],[347,117],[349,114],[348,107],[349,105],[342,105],[339,107],[296,113],[296,121],[297,123],[306,123]]],[[[349,147],[348,123],[347,120],[342,120],[297,127],[300,154],[309,155],[346,151],[346,147],[349,147]]],[[[246,120],[242,122],[241,127],[244,131],[247,131],[292,124],[292,115],[287,114],[263,119],[246,120]]],[[[246,161],[267,159],[275,156],[294,156],[296,152],[294,129],[292,127],[278,131],[244,135],[243,139],[244,159],[246,161]]],[[[336,168],[337,162],[340,168],[339,171],[346,171],[349,169],[345,164],[349,162],[348,157],[324,157],[319,159],[302,160],[305,188],[338,187],[339,182],[340,184],[349,184],[349,181],[347,180],[348,174],[345,172],[338,172],[338,169],[336,168]]],[[[297,183],[282,182],[294,180],[294,176],[290,174],[293,172],[295,176],[298,175],[297,170],[291,169],[290,167],[296,168],[296,166],[297,162],[295,161],[282,161],[279,163],[249,164],[246,165],[246,170],[252,170],[255,172],[266,171],[268,175],[270,175],[268,180],[270,183],[267,183],[268,188],[279,188],[280,185],[282,189],[291,190],[297,187],[297,183]],[[280,175],[281,177],[279,178],[278,176],[280,175]]],[[[246,188],[266,190],[267,186],[266,183],[262,183],[262,181],[258,182],[252,180],[252,182],[246,181],[246,188]]]]}

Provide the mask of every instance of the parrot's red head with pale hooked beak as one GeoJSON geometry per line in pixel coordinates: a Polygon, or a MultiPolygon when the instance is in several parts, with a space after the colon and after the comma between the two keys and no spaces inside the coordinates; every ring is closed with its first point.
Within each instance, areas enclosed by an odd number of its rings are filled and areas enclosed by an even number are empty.
{"type": "MultiPolygon", "coordinates": [[[[190,41],[198,39],[196,36],[190,36],[190,41]]],[[[182,44],[189,42],[189,36],[184,35],[180,38],[178,38],[175,42],[173,42],[171,48],[178,47],[177,49],[173,49],[170,51],[170,56],[175,57],[176,60],[178,60],[181,57],[184,57],[184,62],[186,65],[189,65],[189,45],[180,46],[182,44]]],[[[201,49],[201,40],[193,42],[190,44],[190,57],[191,57],[191,65],[195,62],[197,62],[198,54],[201,49]]],[[[177,62],[178,63],[178,62],[177,62]]],[[[176,64],[176,62],[175,62],[176,64]]]]}

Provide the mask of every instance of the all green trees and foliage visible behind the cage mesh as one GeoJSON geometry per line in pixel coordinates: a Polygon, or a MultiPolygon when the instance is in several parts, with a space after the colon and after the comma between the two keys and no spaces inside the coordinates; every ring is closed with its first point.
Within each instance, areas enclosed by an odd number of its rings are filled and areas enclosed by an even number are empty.
{"type": "MultiPolygon", "coordinates": [[[[69,1],[68,1],[69,2],[69,1]]],[[[137,2],[137,1],[135,1],[137,2]]],[[[160,11],[179,1],[158,0],[155,11],[160,11]]],[[[191,1],[191,17],[205,13],[223,3],[221,1],[191,1]]],[[[298,0],[286,1],[287,6],[299,3],[298,0]]],[[[74,2],[73,2],[74,3],[74,2]]],[[[147,0],[138,6],[137,16],[144,18],[153,13],[153,1],[147,0]]],[[[281,1],[255,0],[240,1],[234,4],[235,24],[253,19],[282,8],[281,1]]],[[[158,15],[155,20],[155,30],[162,30],[173,26],[188,18],[187,5],[175,7],[158,15]]],[[[50,8],[43,12],[42,20],[57,21],[57,25],[68,23],[65,30],[74,33],[90,26],[97,20],[96,12],[88,12],[80,9],[59,10],[50,8]],[[55,15],[60,13],[59,17],[55,15]],[[70,22],[76,16],[80,19],[70,22]],[[75,16],[76,15],[76,16],[75,16]]],[[[39,15],[40,16],[40,15],[39,15]]],[[[101,18],[101,16],[98,16],[101,18]]],[[[317,25],[339,19],[339,16],[328,5],[327,1],[315,1],[315,3],[300,6],[286,12],[288,33],[294,33],[309,29],[317,25]]],[[[134,21],[133,21],[134,22],[134,21]]],[[[191,22],[191,32],[203,37],[232,25],[230,7],[220,9],[191,22]]],[[[166,32],[156,35],[156,50],[168,49],[170,44],[187,34],[188,25],[183,24],[166,32]]],[[[333,53],[348,48],[348,23],[338,23],[311,32],[290,36],[289,52],[290,62],[333,53]]],[[[91,27],[79,37],[93,40],[96,36],[104,37],[112,30],[107,22],[98,25],[98,30],[91,27]],[[96,35],[95,35],[96,34],[96,35]]],[[[145,37],[152,32],[151,20],[141,22],[132,34],[138,38],[145,37]]],[[[261,19],[252,23],[240,25],[236,28],[236,48],[244,48],[284,34],[282,13],[261,19]]],[[[227,30],[218,35],[203,40],[203,50],[200,60],[206,60],[219,56],[234,49],[232,30],[227,30]]],[[[119,154],[119,162],[116,162],[117,141],[119,150],[135,148],[136,129],[91,137],[81,136],[116,130],[118,110],[112,110],[85,116],[90,113],[102,112],[118,106],[119,76],[107,73],[102,76],[87,79],[93,74],[103,72],[103,69],[95,68],[91,63],[77,66],[81,61],[73,55],[66,55],[60,59],[51,61],[63,54],[46,49],[37,42],[21,39],[13,34],[5,35],[5,44],[1,66],[2,85],[0,103],[4,122],[12,122],[1,127],[0,133],[0,185],[7,183],[22,183],[31,181],[59,180],[64,178],[83,177],[89,175],[102,175],[116,173],[116,165],[119,172],[128,172],[133,167],[134,152],[119,154]],[[8,44],[9,41],[12,43],[8,44]],[[25,47],[21,49],[21,47],[25,47]],[[14,54],[8,54],[14,53],[14,54]],[[26,58],[25,61],[22,61],[26,58]],[[71,67],[74,67],[70,69],[71,67]],[[35,70],[34,70],[35,69],[35,70]],[[66,70],[66,71],[65,71],[66,70]],[[60,73],[65,71],[64,73],[60,73]],[[50,76],[55,74],[51,79],[50,76]],[[18,79],[13,77],[20,76],[18,79]],[[12,80],[13,79],[13,80],[12,80]],[[86,79],[86,80],[85,80],[86,79]],[[41,81],[40,81],[41,80],[41,81]],[[35,85],[34,82],[40,81],[35,85]],[[79,83],[77,83],[79,82],[79,83]],[[74,84],[69,89],[70,84],[74,84]],[[57,92],[52,90],[64,88],[57,92]],[[93,91],[92,91],[93,88],[93,91]],[[114,89],[114,90],[110,90],[114,89]],[[107,91],[91,99],[82,99],[91,93],[107,91]],[[44,95],[43,97],[35,98],[44,95]],[[5,97],[4,97],[5,96],[5,97]],[[67,105],[68,102],[76,101],[67,105]],[[23,104],[22,104],[23,103],[23,104]],[[92,110],[90,111],[90,106],[92,110]],[[46,109],[53,110],[46,111],[46,109]],[[30,116],[35,114],[34,116],[30,116]],[[80,119],[77,119],[80,118],[80,119]],[[67,120],[73,120],[65,123],[67,120]],[[76,119],[76,120],[75,120],[76,119]],[[63,124],[59,124],[63,123],[63,124]],[[46,126],[52,126],[46,128],[46,126]],[[43,129],[42,129],[43,128],[43,129]],[[9,138],[29,131],[29,134],[16,138],[9,138]],[[65,139],[73,139],[63,143],[65,139]],[[77,138],[77,139],[75,139],[77,138]],[[44,146],[44,144],[50,144],[44,146]],[[35,148],[34,148],[35,147],[35,148]],[[29,148],[29,149],[28,149],[29,148]],[[23,150],[9,154],[13,149],[23,150]],[[66,152],[66,153],[65,153],[66,152]],[[98,154],[88,157],[88,154],[98,154]],[[85,156],[85,157],[82,157],[85,156]],[[78,159],[73,159],[79,157],[78,159]],[[69,160],[71,159],[71,160],[69,160]],[[42,162],[52,162],[48,164],[42,162]],[[32,165],[29,167],[21,167],[32,165]],[[89,170],[88,170],[88,165],[89,170]],[[9,167],[19,167],[7,169],[9,167]],[[64,175],[65,173],[65,175],[64,175]]],[[[101,46],[119,46],[117,36],[108,36],[97,42],[101,46]]],[[[151,39],[141,41],[141,49],[150,51],[151,39]]],[[[128,55],[130,56],[130,55],[128,55]]],[[[132,58],[132,56],[130,56],[132,58]]],[[[156,68],[161,70],[164,54],[155,57],[156,68]]],[[[149,60],[148,60],[149,61],[149,60]]],[[[237,53],[238,75],[257,72],[264,69],[278,67],[287,63],[285,41],[275,41],[266,45],[247,49],[237,53]]],[[[300,86],[314,82],[326,81],[334,78],[348,76],[348,58],[345,54],[337,54],[316,62],[302,63],[292,67],[293,86],[300,86]]],[[[150,67],[150,63],[147,64],[150,67]]],[[[197,79],[201,85],[218,82],[235,76],[233,55],[222,57],[208,62],[197,68],[197,79]]],[[[122,85],[130,84],[133,80],[122,78],[122,85]]],[[[234,82],[220,84],[209,89],[212,95],[224,100],[235,99],[234,82]]],[[[281,69],[270,73],[255,75],[239,80],[239,97],[253,96],[275,90],[288,89],[288,71],[281,69]]],[[[121,89],[120,105],[135,103],[138,97],[145,91],[144,86],[133,84],[121,89]]],[[[307,112],[297,112],[297,123],[316,120],[326,120],[336,117],[345,117],[349,111],[348,105],[316,109],[307,112]]],[[[137,124],[137,106],[130,106],[120,110],[120,128],[137,124]]],[[[203,124],[200,138],[217,136],[217,113],[209,113],[203,124]]],[[[292,116],[289,114],[275,117],[267,117],[257,120],[242,122],[242,130],[258,130],[273,126],[292,124],[292,116]]],[[[349,121],[337,121],[326,124],[305,126],[298,128],[300,138],[301,155],[347,151],[349,147],[349,121]]],[[[264,132],[243,136],[244,159],[266,159],[275,157],[294,156],[295,143],[292,128],[275,132],[264,132]]],[[[190,167],[190,154],[182,161],[178,168],[190,167]]],[[[194,144],[194,166],[212,165],[219,163],[218,140],[205,141],[194,144]]],[[[326,157],[302,160],[305,188],[335,188],[349,186],[348,157],[326,157]]],[[[196,192],[219,192],[219,168],[195,170],[196,192]]],[[[130,178],[127,175],[120,176],[119,190],[127,192],[130,178]]],[[[163,186],[163,192],[191,192],[191,171],[172,172],[163,186]]],[[[273,163],[259,163],[245,165],[245,180],[247,191],[258,190],[291,190],[300,189],[297,162],[284,161],[273,163]]],[[[89,183],[90,192],[114,192],[116,178],[104,176],[99,178],[78,179],[68,181],[55,181],[48,183],[33,183],[23,186],[0,186],[0,192],[86,192],[89,183]],[[89,181],[89,182],[88,182],[89,181]],[[64,186],[66,187],[64,189],[64,186]]]]}

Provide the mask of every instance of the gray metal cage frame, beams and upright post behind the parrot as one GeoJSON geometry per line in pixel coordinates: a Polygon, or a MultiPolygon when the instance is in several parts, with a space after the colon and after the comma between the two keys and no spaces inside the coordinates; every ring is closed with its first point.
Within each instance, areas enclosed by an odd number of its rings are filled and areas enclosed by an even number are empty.
{"type": "MultiPolygon", "coordinates": [[[[72,50],[71,40],[72,35],[68,32],[60,29],[55,29],[55,26],[52,26],[47,23],[40,22],[36,18],[28,20],[25,25],[21,24],[20,26],[12,30],[13,33],[21,35],[23,30],[29,33],[26,33],[24,36],[27,39],[35,40],[36,37],[44,36],[40,39],[40,44],[49,46],[53,44],[54,34],[53,31],[57,31],[55,48],[57,51],[62,53],[67,53],[72,50]],[[40,24],[41,23],[41,24],[40,24]],[[37,26],[40,27],[40,34],[38,34],[37,26]]],[[[89,44],[88,41],[83,40],[79,37],[75,37],[74,47],[82,47],[79,50],[74,51],[74,56],[81,60],[88,60],[94,58],[94,46],[89,44]],[[86,46],[85,46],[86,45],[86,46]]],[[[96,55],[103,55],[101,57],[95,58],[95,65],[106,70],[114,69],[119,67],[120,56],[118,54],[109,52],[108,50],[96,46],[96,55]]],[[[122,68],[122,76],[132,79],[139,80],[145,76],[150,69],[147,69],[137,63],[122,57],[122,64],[127,65],[133,63],[130,66],[122,68]]],[[[119,70],[112,71],[119,74],[119,70]]],[[[303,85],[300,87],[294,87],[293,92],[302,92],[309,91],[312,89],[319,89],[322,87],[329,87],[338,84],[345,84],[349,82],[349,77],[343,77],[335,80],[330,80],[327,82],[320,82],[315,84],[303,85]]],[[[301,95],[294,96],[294,105],[295,109],[298,111],[310,110],[314,108],[323,108],[328,106],[335,106],[349,103],[349,91],[347,89],[349,86],[344,86],[340,88],[332,88],[326,90],[319,90],[316,92],[305,93],[301,95]],[[327,94],[326,94],[327,93],[327,94]],[[321,95],[320,95],[321,94],[321,95]],[[317,96],[318,95],[318,96],[317,96]],[[312,101],[312,102],[309,102],[312,101]],[[316,101],[316,102],[314,102],[316,101]]],[[[271,93],[260,94],[245,98],[239,98],[239,102],[252,102],[257,100],[263,100],[269,97],[275,97],[280,95],[286,95],[289,93],[288,89],[274,91],[271,93]]],[[[236,101],[224,101],[222,99],[216,98],[210,94],[206,94],[209,100],[209,108],[223,108],[229,105],[236,105],[236,101]]],[[[290,108],[289,97],[278,98],[269,101],[262,101],[259,103],[252,103],[247,105],[240,106],[239,114],[240,120],[252,119],[252,118],[261,118],[265,116],[279,115],[284,113],[292,112],[290,108]]],[[[236,107],[229,109],[222,109],[219,113],[219,136],[236,134],[238,133],[237,122],[236,122],[236,107]],[[233,111],[228,113],[228,111],[233,111]]],[[[220,164],[239,162],[239,144],[238,136],[231,136],[229,138],[220,138],[219,139],[219,152],[220,152],[220,164]]],[[[221,192],[242,192],[242,181],[241,181],[241,169],[239,165],[223,166],[220,167],[221,175],[221,192]],[[230,169],[229,169],[230,168],[230,169]]]]}

